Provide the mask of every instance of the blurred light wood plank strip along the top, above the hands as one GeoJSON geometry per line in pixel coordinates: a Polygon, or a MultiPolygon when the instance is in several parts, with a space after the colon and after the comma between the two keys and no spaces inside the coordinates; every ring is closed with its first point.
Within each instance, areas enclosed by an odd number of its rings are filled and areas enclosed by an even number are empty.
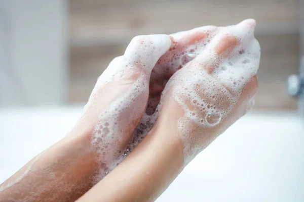
{"type": "Polygon", "coordinates": [[[258,32],[297,31],[297,0],[278,1],[70,1],[74,45],[123,43],[133,36],[172,33],[255,18],[258,32]]]}

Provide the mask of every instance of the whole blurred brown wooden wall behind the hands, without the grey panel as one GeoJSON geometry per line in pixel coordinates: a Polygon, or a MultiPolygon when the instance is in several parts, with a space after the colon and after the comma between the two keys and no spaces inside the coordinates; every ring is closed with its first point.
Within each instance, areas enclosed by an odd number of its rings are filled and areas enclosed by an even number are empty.
{"type": "Polygon", "coordinates": [[[86,102],[98,76],[138,34],[257,21],[262,48],[256,107],[295,109],[285,89],[299,61],[297,0],[70,0],[70,102],[86,102]]]}

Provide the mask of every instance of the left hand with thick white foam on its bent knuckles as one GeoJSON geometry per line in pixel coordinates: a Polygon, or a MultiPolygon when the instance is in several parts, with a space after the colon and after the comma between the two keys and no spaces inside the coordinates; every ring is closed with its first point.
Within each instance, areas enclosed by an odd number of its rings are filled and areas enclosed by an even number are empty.
{"type": "Polygon", "coordinates": [[[170,46],[168,35],[136,36],[125,54],[115,58],[98,78],[73,131],[88,135],[100,165],[100,178],[124,158],[146,108],[151,70],[170,46]]]}

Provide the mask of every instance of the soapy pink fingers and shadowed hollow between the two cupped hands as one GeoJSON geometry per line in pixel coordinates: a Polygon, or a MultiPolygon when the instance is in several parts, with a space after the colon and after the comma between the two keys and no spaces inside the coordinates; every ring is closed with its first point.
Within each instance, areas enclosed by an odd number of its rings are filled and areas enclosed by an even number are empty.
{"type": "Polygon", "coordinates": [[[215,26],[205,26],[170,35],[171,47],[160,58],[151,73],[148,109],[154,110],[149,110],[147,114],[151,115],[155,112],[161,92],[169,78],[203,51],[216,30],[215,26]]]}

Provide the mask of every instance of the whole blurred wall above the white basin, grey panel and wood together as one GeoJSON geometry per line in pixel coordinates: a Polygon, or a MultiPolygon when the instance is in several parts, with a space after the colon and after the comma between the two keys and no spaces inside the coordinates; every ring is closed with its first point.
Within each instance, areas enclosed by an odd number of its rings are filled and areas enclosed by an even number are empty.
{"type": "Polygon", "coordinates": [[[255,109],[296,109],[300,0],[0,0],[0,106],[84,104],[135,35],[257,21],[255,109]],[[26,3],[25,3],[26,2],[26,3]]]}

